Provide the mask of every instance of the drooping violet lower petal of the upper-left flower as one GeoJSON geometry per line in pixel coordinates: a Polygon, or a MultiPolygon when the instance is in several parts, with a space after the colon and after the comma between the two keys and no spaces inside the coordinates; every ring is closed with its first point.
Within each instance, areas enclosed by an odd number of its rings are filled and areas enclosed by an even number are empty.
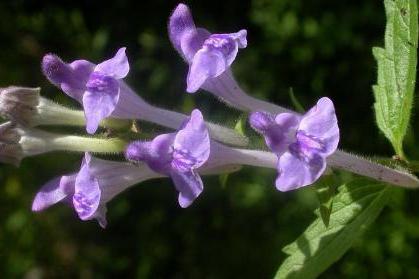
{"type": "Polygon", "coordinates": [[[119,99],[118,81],[110,76],[92,73],[83,95],[83,108],[86,115],[86,130],[93,134],[102,119],[110,116],[119,99]]]}

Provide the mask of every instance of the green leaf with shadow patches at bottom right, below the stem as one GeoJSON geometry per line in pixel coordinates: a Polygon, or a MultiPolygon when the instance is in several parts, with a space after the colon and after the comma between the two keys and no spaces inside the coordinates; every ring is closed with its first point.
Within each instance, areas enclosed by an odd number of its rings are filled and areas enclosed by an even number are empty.
{"type": "Polygon", "coordinates": [[[333,199],[329,226],[317,218],[283,252],[289,256],[275,278],[316,278],[342,257],[378,217],[390,197],[382,183],[357,179],[339,187],[333,199]]]}

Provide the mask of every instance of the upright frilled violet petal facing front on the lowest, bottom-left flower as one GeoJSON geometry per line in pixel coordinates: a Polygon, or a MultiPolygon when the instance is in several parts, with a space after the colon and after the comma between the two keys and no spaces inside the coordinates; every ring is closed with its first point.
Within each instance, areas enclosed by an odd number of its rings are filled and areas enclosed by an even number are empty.
{"type": "Polygon", "coordinates": [[[99,207],[101,196],[99,182],[89,170],[90,159],[91,156],[85,153],[74,186],[73,205],[82,220],[92,219],[99,207]]]}

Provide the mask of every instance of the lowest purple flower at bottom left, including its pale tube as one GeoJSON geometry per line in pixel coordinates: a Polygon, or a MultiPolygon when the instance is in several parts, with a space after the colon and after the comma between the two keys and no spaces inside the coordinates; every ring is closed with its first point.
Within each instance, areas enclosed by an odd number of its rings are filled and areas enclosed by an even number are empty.
{"type": "Polygon", "coordinates": [[[81,220],[96,219],[104,228],[109,200],[129,186],[160,176],[146,166],[100,160],[86,153],[78,173],[57,177],[41,188],[32,210],[63,201],[74,207],[81,220]]]}

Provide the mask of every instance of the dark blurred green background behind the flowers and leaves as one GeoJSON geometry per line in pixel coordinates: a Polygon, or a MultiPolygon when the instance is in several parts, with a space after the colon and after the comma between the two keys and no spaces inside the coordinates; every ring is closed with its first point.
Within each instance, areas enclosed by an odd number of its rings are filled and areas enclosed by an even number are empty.
{"type": "MultiPolygon", "coordinates": [[[[383,45],[382,1],[190,1],[198,26],[218,33],[248,30],[249,45],[233,65],[250,94],[292,107],[335,102],[343,149],[390,157],[374,123],[371,47],[383,45]]],[[[40,71],[44,54],[64,60],[107,59],[127,47],[127,82],[151,103],[233,126],[240,112],[207,93],[184,94],[187,66],[171,47],[168,16],[175,1],[1,1],[0,87],[41,86],[72,106],[40,71]]],[[[414,114],[415,115],[415,114],[414,114]]],[[[413,131],[407,154],[418,159],[413,131]]],[[[255,135],[249,133],[255,140],[255,135]]],[[[2,278],[271,278],[281,248],[315,218],[310,187],[280,193],[270,170],[244,168],[226,185],[204,179],[204,194],[177,205],[169,179],[138,185],[109,205],[109,226],[80,221],[64,205],[34,214],[32,199],[50,178],[78,169],[81,155],[27,158],[0,166],[2,278]]],[[[419,278],[418,192],[398,191],[367,233],[322,278],[419,278]]]]}

